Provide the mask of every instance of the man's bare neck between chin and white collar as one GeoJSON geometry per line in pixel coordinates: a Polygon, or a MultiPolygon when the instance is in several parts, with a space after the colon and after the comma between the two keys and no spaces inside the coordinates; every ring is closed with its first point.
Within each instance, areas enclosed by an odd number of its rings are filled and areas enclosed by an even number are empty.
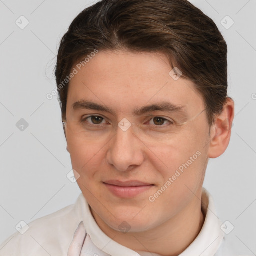
{"type": "MultiPolygon", "coordinates": [[[[201,194],[198,197],[201,198],[201,194]]],[[[114,241],[138,253],[147,251],[162,256],[176,256],[183,252],[199,234],[204,222],[201,201],[197,196],[182,212],[143,232],[122,233],[110,228],[93,210],[92,214],[102,231],[114,241]]]]}

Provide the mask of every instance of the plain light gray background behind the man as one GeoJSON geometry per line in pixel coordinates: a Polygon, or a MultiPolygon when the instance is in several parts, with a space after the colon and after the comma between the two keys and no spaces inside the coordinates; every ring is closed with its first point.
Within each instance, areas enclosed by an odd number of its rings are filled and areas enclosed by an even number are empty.
{"type": "MultiPolygon", "coordinates": [[[[220,219],[234,226],[227,235],[233,247],[256,255],[256,1],[191,2],[215,21],[228,44],[228,93],[235,101],[229,147],[210,159],[204,187],[220,219]],[[234,21],[228,29],[226,15],[234,21]]],[[[0,0],[0,243],[21,220],[57,211],[80,193],[66,177],[72,167],[57,97],[48,100],[46,94],[56,86],[60,38],[91,3],[0,0]],[[21,15],[29,21],[24,29],[15,23],[21,15]],[[28,123],[23,131],[16,126],[21,118],[28,123]]]]}

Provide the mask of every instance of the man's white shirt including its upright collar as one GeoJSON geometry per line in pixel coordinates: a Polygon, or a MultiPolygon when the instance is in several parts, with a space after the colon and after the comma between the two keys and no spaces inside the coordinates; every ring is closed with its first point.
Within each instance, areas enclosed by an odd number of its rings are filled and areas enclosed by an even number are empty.
{"type": "MultiPolygon", "coordinates": [[[[220,228],[222,223],[215,214],[212,197],[204,188],[201,201],[203,227],[180,256],[236,256],[227,248],[220,228]]],[[[158,256],[137,253],[108,237],[97,225],[82,194],[75,204],[36,219],[28,226],[24,234],[20,234],[24,231],[21,229],[0,245],[0,256],[158,256]]]]}

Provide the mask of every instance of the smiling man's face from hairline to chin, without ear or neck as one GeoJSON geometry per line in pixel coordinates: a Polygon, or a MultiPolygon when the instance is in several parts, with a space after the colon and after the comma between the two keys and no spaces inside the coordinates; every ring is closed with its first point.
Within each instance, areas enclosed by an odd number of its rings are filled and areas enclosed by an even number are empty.
{"type": "Polygon", "coordinates": [[[99,51],[69,83],[72,167],[94,217],[112,229],[155,228],[200,204],[205,105],[193,83],[171,70],[160,53],[99,51]],[[145,108],[151,105],[169,109],[145,108]]]}

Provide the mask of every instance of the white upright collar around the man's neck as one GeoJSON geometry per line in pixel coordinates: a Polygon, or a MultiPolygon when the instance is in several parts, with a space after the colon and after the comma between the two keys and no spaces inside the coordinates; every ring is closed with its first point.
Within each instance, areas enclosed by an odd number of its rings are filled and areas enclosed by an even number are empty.
{"type": "MultiPolygon", "coordinates": [[[[99,228],[82,194],[78,197],[76,206],[87,233],[82,250],[84,253],[92,251],[93,247],[94,253],[97,253],[99,256],[140,256],[137,252],[112,240],[99,228]]],[[[220,229],[221,221],[215,214],[212,197],[205,188],[202,190],[201,207],[205,216],[202,229],[195,240],[180,256],[213,256],[223,240],[224,233],[220,229]]],[[[143,256],[152,255],[146,252],[141,254],[143,256]]]]}

